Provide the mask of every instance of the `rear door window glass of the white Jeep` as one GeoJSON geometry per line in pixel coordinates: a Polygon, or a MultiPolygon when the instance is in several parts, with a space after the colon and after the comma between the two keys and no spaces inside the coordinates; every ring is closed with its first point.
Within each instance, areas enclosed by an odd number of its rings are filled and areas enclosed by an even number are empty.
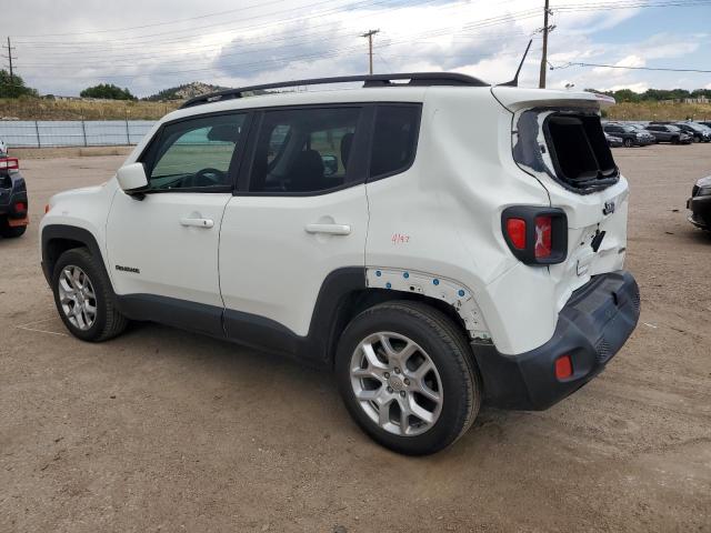
{"type": "Polygon", "coordinates": [[[250,192],[316,193],[346,184],[360,114],[354,107],[267,111],[250,192]]]}

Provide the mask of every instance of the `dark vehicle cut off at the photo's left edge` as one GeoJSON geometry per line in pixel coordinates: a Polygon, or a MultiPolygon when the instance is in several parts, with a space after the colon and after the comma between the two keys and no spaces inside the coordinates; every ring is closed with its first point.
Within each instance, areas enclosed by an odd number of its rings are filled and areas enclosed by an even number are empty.
{"type": "Polygon", "coordinates": [[[0,155],[0,237],[20,237],[28,222],[27,187],[18,160],[0,155]]]}

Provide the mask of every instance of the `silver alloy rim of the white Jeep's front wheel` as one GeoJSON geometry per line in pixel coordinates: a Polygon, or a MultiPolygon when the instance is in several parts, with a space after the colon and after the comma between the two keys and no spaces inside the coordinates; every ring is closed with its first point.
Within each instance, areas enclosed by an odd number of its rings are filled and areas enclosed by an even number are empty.
{"type": "Polygon", "coordinates": [[[69,323],[81,331],[89,330],[97,320],[97,295],[87,273],[76,265],[67,265],[59,274],[59,303],[69,323]]]}

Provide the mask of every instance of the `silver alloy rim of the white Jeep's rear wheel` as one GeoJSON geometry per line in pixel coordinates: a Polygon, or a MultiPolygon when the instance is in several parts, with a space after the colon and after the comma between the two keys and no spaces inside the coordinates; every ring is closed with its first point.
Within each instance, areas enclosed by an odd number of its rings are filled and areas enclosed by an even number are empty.
{"type": "Polygon", "coordinates": [[[353,394],[368,418],[388,433],[414,436],[442,412],[442,380],[430,355],[391,332],[363,339],[351,356],[353,394]]]}

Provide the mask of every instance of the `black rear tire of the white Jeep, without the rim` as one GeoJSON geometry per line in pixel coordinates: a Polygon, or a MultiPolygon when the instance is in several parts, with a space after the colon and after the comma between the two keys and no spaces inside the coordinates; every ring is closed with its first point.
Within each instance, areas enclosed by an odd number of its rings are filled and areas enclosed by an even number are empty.
{"type": "Polygon", "coordinates": [[[420,302],[385,302],[356,316],[338,345],[336,379],[346,408],[358,425],[381,445],[407,455],[425,455],[452,444],[471,428],[481,404],[481,380],[463,332],[444,313],[420,302]],[[441,412],[423,433],[401,436],[385,431],[371,420],[356,398],[351,384],[352,356],[361,341],[380,332],[414,341],[439,373],[441,412]]]}

